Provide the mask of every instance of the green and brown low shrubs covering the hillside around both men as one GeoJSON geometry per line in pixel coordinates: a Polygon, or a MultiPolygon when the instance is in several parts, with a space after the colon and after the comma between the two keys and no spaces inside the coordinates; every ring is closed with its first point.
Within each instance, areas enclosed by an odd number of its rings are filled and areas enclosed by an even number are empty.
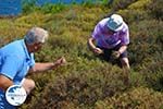
{"type": "Polygon", "coordinates": [[[108,4],[26,5],[17,17],[0,19],[0,47],[24,37],[33,26],[50,37],[36,61],[64,56],[67,64],[29,75],[36,88],[20,109],[162,109],[163,108],[163,0],[114,0],[108,4]],[[28,10],[28,8],[30,8],[28,10]],[[115,12],[130,31],[131,70],[101,61],[87,47],[95,25],[115,12]]]}

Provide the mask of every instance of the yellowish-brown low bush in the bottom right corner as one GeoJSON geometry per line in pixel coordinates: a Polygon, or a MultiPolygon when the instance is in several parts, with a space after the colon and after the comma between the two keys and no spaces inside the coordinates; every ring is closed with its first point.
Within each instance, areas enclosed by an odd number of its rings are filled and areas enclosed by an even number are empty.
{"type": "Polygon", "coordinates": [[[104,101],[98,101],[95,109],[161,109],[163,95],[150,88],[138,87],[104,101]]]}

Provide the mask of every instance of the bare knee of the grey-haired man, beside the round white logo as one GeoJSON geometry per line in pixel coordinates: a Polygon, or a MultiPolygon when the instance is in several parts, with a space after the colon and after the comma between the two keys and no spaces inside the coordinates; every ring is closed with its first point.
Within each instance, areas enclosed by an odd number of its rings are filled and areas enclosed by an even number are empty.
{"type": "Polygon", "coordinates": [[[22,86],[25,88],[26,93],[29,94],[35,88],[35,82],[33,80],[25,78],[22,86]]]}

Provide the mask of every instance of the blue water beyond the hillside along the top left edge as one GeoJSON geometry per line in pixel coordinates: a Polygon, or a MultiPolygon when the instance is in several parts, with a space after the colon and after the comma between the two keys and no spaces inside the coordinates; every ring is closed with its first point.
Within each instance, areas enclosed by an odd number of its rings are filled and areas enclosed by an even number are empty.
{"type": "MultiPolygon", "coordinates": [[[[17,15],[22,12],[22,2],[30,2],[33,0],[0,0],[0,15],[17,15]]],[[[45,3],[82,3],[88,0],[37,0],[37,5],[45,3]]],[[[90,0],[89,0],[90,1],[90,0]]],[[[92,0],[95,2],[97,0],[92,0]]]]}

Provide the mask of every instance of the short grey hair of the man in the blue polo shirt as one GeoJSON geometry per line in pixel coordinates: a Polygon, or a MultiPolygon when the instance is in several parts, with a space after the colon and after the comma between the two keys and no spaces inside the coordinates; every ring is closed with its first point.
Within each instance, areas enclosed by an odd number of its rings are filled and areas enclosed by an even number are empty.
{"type": "Polygon", "coordinates": [[[25,41],[28,45],[35,44],[35,43],[45,43],[48,38],[48,32],[41,27],[33,27],[27,32],[25,35],[25,41]]]}

